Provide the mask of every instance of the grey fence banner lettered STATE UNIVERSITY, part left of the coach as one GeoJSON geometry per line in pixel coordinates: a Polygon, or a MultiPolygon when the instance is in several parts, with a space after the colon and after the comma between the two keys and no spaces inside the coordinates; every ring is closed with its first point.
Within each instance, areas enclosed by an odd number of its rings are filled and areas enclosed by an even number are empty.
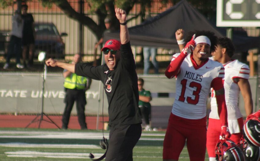
{"type": "MultiPolygon", "coordinates": [[[[41,113],[42,94],[43,112],[62,114],[65,104],[64,78],[62,74],[47,74],[43,87],[42,73],[1,73],[0,74],[0,112],[1,113],[41,113]]],[[[96,115],[98,111],[99,82],[92,80],[91,88],[86,91],[86,114],[96,115]]],[[[102,95],[101,98],[102,99],[102,95]]],[[[104,101],[107,107],[107,101],[104,101]]],[[[75,106],[75,104],[74,104],[75,106]]],[[[105,114],[107,108],[104,108],[105,114]]],[[[76,108],[72,109],[76,114],[76,108]]]]}

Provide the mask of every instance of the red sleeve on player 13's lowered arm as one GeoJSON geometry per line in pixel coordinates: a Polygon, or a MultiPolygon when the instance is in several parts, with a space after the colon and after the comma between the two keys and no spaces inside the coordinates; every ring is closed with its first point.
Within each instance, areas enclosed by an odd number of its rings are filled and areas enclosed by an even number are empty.
{"type": "MultiPolygon", "coordinates": [[[[211,82],[211,86],[215,91],[221,90],[222,88],[224,89],[222,78],[217,77],[213,79],[213,81],[211,82]]],[[[228,126],[228,113],[227,113],[227,106],[225,101],[225,93],[221,95],[216,95],[216,100],[217,100],[217,111],[218,111],[219,118],[221,120],[221,126],[228,126]]]]}

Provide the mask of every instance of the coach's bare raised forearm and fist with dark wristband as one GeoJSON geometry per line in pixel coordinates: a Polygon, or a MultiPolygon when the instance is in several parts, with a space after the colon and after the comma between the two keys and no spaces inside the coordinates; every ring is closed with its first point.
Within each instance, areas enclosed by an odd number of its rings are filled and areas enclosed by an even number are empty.
{"type": "Polygon", "coordinates": [[[120,41],[121,44],[129,42],[129,32],[126,24],[126,12],[123,9],[115,8],[117,19],[120,22],[120,41]]]}

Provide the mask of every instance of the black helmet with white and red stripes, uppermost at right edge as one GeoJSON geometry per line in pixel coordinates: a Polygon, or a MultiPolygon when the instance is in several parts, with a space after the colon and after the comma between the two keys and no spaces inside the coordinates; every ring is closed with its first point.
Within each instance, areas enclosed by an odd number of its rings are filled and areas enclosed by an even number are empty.
{"type": "Polygon", "coordinates": [[[243,126],[244,139],[254,146],[260,146],[260,122],[258,118],[251,117],[243,126]]]}

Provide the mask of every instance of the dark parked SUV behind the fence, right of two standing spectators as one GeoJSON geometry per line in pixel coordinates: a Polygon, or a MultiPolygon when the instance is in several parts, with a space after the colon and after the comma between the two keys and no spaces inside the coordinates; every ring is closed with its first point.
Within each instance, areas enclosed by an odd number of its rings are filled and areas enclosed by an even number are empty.
{"type": "Polygon", "coordinates": [[[64,58],[65,43],[63,36],[68,36],[67,33],[59,34],[56,26],[53,23],[35,23],[35,57],[38,57],[39,52],[45,51],[46,58],[64,58]]]}

